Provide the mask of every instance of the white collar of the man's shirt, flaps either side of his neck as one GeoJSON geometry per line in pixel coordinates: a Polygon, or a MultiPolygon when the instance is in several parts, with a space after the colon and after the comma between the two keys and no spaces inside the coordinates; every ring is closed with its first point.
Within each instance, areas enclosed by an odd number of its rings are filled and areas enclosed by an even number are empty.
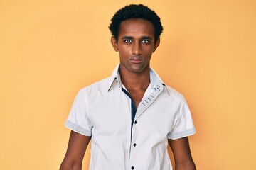
{"type": "MultiPolygon", "coordinates": [[[[159,87],[159,86],[164,86],[164,89],[166,89],[166,85],[164,84],[164,81],[161,80],[161,78],[154,71],[154,69],[150,68],[149,74],[150,74],[150,86],[152,89],[154,87],[159,87]]],[[[112,72],[112,81],[110,83],[108,91],[110,91],[110,89],[112,89],[114,86],[122,87],[122,81],[119,74],[119,64],[117,65],[117,67],[114,68],[114,71],[112,72]]]]}

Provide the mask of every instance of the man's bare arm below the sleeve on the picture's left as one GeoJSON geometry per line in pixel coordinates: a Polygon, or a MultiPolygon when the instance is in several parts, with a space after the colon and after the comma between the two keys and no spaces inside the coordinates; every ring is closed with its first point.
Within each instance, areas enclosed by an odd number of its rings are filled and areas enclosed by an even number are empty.
{"type": "Polygon", "coordinates": [[[81,169],[82,159],[85,150],[90,142],[90,136],[81,135],[71,130],[68,149],[63,159],[60,169],[81,169]]]}

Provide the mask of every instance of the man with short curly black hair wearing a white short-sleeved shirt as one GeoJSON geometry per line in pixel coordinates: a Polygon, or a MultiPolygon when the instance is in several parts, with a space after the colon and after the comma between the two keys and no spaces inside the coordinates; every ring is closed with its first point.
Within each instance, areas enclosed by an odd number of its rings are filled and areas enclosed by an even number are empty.
{"type": "Polygon", "coordinates": [[[60,169],[81,169],[90,140],[90,170],[171,170],[168,143],[176,170],[196,169],[187,137],[196,131],[186,101],[149,66],[163,30],[159,16],[132,4],[114,14],[110,30],[120,63],[112,77],[76,96],[60,169]]]}

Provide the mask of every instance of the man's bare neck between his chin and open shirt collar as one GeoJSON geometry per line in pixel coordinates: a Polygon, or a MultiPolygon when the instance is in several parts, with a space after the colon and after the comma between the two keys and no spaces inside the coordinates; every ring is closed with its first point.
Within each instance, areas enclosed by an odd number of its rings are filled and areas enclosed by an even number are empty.
{"type": "Polygon", "coordinates": [[[150,83],[150,74],[149,67],[145,68],[143,72],[133,73],[129,72],[126,69],[119,69],[120,77],[122,84],[127,88],[127,90],[139,90],[144,89],[149,86],[150,83]]]}

